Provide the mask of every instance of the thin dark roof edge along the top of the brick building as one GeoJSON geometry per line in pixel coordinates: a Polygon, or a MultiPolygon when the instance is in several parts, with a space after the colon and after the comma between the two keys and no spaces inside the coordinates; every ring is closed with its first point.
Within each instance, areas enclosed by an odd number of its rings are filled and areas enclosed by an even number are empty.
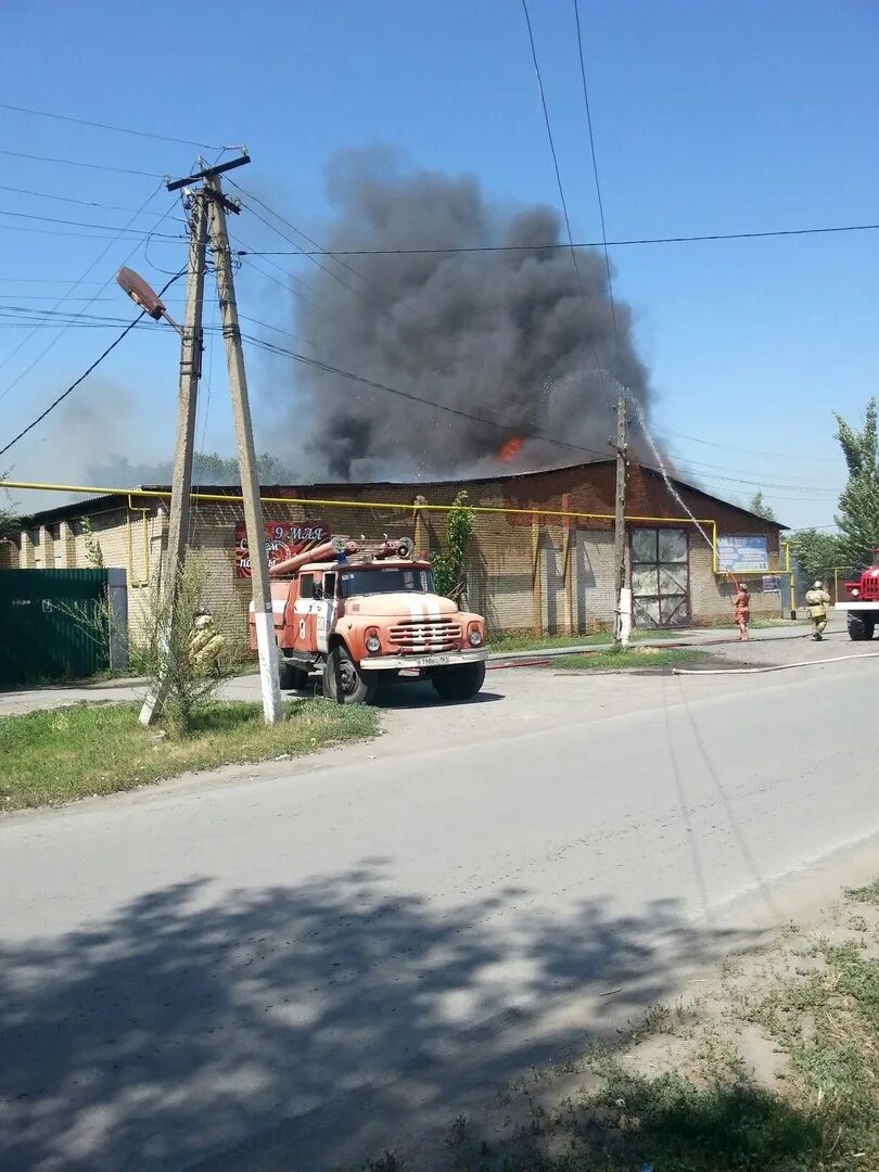
{"type": "MultiPolygon", "coordinates": [[[[580,464],[563,464],[559,468],[543,468],[533,472],[507,472],[502,476],[472,476],[463,479],[448,479],[448,481],[363,481],[357,484],[353,484],[347,481],[323,481],[313,484],[263,484],[260,485],[260,491],[264,497],[272,496],[291,496],[291,504],[294,504],[298,495],[306,495],[311,497],[320,497],[321,492],[339,492],[340,489],[347,490],[349,493],[366,495],[369,489],[410,489],[413,492],[429,492],[431,489],[451,489],[451,488],[466,488],[469,484],[498,484],[503,482],[527,482],[537,479],[541,476],[551,476],[556,472],[571,472],[571,471],[588,471],[591,468],[599,468],[607,464],[613,464],[615,461],[613,457],[607,459],[592,459],[586,463],[580,464]]],[[[646,464],[640,464],[639,468],[642,472],[648,476],[653,476],[659,481],[662,481],[662,473],[655,468],[649,468],[646,464]]],[[[749,509],[744,509],[742,505],[732,504],[730,500],[724,500],[722,497],[714,496],[710,492],[706,492],[704,489],[700,489],[695,484],[690,484],[688,481],[682,481],[677,476],[672,476],[669,473],[668,479],[672,484],[680,489],[684,489],[688,493],[701,497],[703,500],[709,502],[710,505],[723,505],[724,509],[734,509],[736,512],[743,513],[745,517],[756,517],[769,529],[785,530],[786,525],[782,525],[779,522],[766,520],[765,517],[761,517],[759,513],[754,513],[749,509]]],[[[136,499],[141,492],[170,492],[170,484],[141,484],[136,489],[124,492],[108,492],[104,496],[90,497],[87,500],[74,500],[67,505],[57,505],[55,509],[46,509],[43,512],[28,513],[27,520],[30,522],[29,529],[38,525],[52,525],[60,520],[69,520],[77,517],[90,517],[96,516],[100,512],[109,512],[113,509],[121,509],[128,504],[129,497],[136,499]]],[[[240,496],[241,486],[240,484],[199,484],[193,488],[193,492],[206,492],[213,496],[220,497],[236,497],[240,496]]],[[[139,497],[142,504],[136,507],[143,507],[149,502],[158,504],[158,498],[156,497],[139,497]]],[[[166,498],[165,498],[166,499],[166,498]]]]}

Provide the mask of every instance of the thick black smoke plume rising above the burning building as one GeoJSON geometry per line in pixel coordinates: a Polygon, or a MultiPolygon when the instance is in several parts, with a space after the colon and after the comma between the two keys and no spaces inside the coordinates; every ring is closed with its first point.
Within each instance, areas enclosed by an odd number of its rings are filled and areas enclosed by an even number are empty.
{"type": "Polygon", "coordinates": [[[552,209],[504,211],[475,178],[403,169],[380,149],[335,157],[327,186],[329,250],[516,251],[321,258],[328,272],[308,271],[305,353],[485,421],[298,366],[315,475],[490,475],[505,444],[515,470],[578,463],[609,455],[620,382],[648,409],[628,306],[616,301],[614,333],[604,258],[578,250],[578,281],[552,209]]]}

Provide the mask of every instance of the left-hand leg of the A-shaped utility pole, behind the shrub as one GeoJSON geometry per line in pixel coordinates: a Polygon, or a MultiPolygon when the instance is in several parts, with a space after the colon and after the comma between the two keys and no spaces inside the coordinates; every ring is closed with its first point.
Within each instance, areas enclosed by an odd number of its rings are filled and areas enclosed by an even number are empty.
{"type": "MultiPolygon", "coordinates": [[[[177,646],[170,627],[176,616],[176,594],[179,573],[189,540],[190,497],[192,493],[192,458],[196,447],[196,413],[198,380],[202,373],[202,307],[204,304],[205,246],[207,243],[207,209],[203,191],[192,196],[190,217],[189,257],[186,261],[186,299],[180,327],[180,379],[177,393],[177,435],[175,440],[171,504],[168,520],[168,563],[161,584],[161,613],[166,629],[158,632],[165,648],[177,646]]],[[[165,681],[159,674],[141,708],[141,724],[150,725],[162,710],[165,681]]]]}

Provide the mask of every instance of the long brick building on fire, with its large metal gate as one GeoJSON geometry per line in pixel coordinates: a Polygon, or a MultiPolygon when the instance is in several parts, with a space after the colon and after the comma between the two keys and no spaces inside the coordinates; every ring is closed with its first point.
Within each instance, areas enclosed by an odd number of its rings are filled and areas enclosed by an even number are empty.
{"type": "MultiPolygon", "coordinates": [[[[264,513],[279,525],[321,523],[355,538],[408,533],[416,548],[441,548],[444,509],[464,489],[477,509],[465,565],[470,607],[496,631],[570,633],[613,619],[614,477],[608,459],[463,482],[275,485],[263,490],[264,513]]],[[[684,482],[673,485],[686,509],[659,473],[631,466],[627,559],[635,624],[687,626],[729,618],[731,581],[718,571],[735,568],[725,560],[734,548],[745,559],[738,568],[748,574],[754,613],[781,615],[784,526],[684,482]]],[[[236,526],[244,516],[234,499],[239,491],[199,490],[190,545],[204,566],[211,605],[243,629],[251,587],[234,574],[236,526]]],[[[0,552],[0,565],[87,566],[96,541],[105,566],[127,571],[129,614],[137,622],[144,587],[159,572],[166,544],[168,486],[62,505],[38,513],[32,524],[5,556],[0,552]]]]}

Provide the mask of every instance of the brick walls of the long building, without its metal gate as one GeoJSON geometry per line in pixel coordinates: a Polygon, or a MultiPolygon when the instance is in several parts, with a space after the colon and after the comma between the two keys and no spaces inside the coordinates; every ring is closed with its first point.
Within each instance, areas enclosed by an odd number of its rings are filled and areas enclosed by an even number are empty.
{"type": "MultiPolygon", "coordinates": [[[[468,601],[485,614],[491,629],[587,631],[609,624],[614,612],[613,512],[615,469],[612,462],[586,468],[560,469],[527,477],[440,484],[315,485],[307,490],[265,489],[266,496],[282,496],[266,503],[266,520],[322,522],[333,533],[355,539],[422,537],[431,548],[444,544],[445,513],[413,509],[391,510],[390,504],[413,505],[417,496],[429,505],[449,505],[463,488],[469,504],[502,510],[475,516],[473,540],[468,553],[468,601]],[[299,498],[321,499],[305,504],[299,498]],[[347,503],[370,502],[369,507],[347,503]],[[333,502],[339,502],[335,504],[333,502]],[[373,504],[374,503],[374,504],[373,504]],[[534,518],[516,510],[541,510],[534,518]],[[565,520],[558,512],[588,513],[565,520]]],[[[770,565],[778,566],[778,529],[725,505],[695,489],[681,488],[688,509],[699,519],[713,518],[721,536],[762,534],[769,539],[770,565]]],[[[138,503],[138,502],[135,502],[138,503]]],[[[148,507],[144,526],[141,511],[127,503],[91,512],[91,529],[108,567],[124,568],[129,580],[129,614],[137,638],[146,609],[148,578],[161,568],[161,550],[166,540],[166,504],[143,498],[148,507]],[[127,518],[130,527],[127,525],[127,518]],[[149,574],[148,574],[149,570],[149,574]]],[[[83,511],[84,512],[84,511],[83,511]]],[[[649,470],[631,469],[627,515],[656,518],[633,522],[646,527],[672,525],[688,533],[690,611],[694,622],[730,620],[731,587],[713,571],[711,551],[696,527],[686,519],[681,505],[661,478],[649,470]],[[682,519],[683,518],[683,519],[682,519]]],[[[218,624],[233,638],[246,632],[251,584],[234,577],[234,529],[244,520],[238,502],[196,502],[191,519],[191,546],[204,567],[206,604],[218,624]]],[[[86,533],[81,518],[43,526],[22,534],[20,564],[40,565],[49,556],[55,565],[88,565],[86,533]],[[27,559],[30,559],[29,561],[27,559]]],[[[749,578],[755,614],[781,614],[778,593],[762,593],[762,577],[749,578]]],[[[731,620],[730,620],[731,621],[731,620]]]]}

